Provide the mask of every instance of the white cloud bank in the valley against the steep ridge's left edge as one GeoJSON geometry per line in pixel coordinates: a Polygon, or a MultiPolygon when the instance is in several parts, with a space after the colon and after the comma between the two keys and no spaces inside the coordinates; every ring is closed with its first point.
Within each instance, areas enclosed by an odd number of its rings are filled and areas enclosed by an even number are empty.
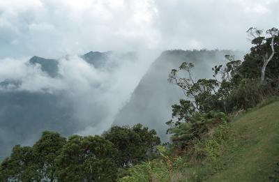
{"type": "Polygon", "coordinates": [[[50,77],[40,64],[31,65],[24,59],[3,59],[0,83],[8,84],[0,86],[0,90],[63,93],[73,103],[75,119],[81,126],[89,126],[86,132],[80,132],[100,134],[110,127],[114,115],[140,82],[148,62],[151,61],[144,56],[131,58],[112,53],[105,66],[95,68],[80,56],[66,56],[59,59],[59,76],[50,77]]]}

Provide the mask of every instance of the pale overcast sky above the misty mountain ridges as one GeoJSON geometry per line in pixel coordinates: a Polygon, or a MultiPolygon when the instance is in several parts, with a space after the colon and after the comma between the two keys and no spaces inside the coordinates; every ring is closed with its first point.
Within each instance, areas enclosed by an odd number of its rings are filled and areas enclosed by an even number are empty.
{"type": "Polygon", "coordinates": [[[121,50],[248,50],[278,0],[0,0],[0,59],[121,50]]]}

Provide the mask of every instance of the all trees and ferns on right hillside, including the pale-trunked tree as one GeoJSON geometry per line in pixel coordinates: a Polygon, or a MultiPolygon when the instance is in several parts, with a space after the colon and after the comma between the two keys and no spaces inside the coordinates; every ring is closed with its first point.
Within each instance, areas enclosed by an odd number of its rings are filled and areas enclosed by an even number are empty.
{"type": "Polygon", "coordinates": [[[187,100],[172,105],[172,118],[176,121],[167,122],[171,126],[167,132],[172,134],[174,146],[185,148],[189,141],[200,139],[209,132],[209,123],[218,126],[222,123],[218,120],[227,121],[225,113],[255,107],[264,97],[278,94],[279,59],[278,54],[273,56],[271,46],[274,40],[274,49],[279,50],[278,29],[266,31],[271,38],[261,36],[262,31],[258,29],[251,28],[248,32],[253,36],[252,44],[255,45],[250,54],[245,56],[243,63],[235,60],[234,56],[226,55],[225,65],[212,68],[213,79],[195,81],[191,73],[194,65],[186,62],[181,64],[179,70],[173,69],[169,74],[169,82],[179,86],[187,97],[187,100]],[[264,77],[262,68],[267,63],[264,77]],[[188,77],[180,77],[181,71],[188,77]],[[220,117],[220,113],[224,114],[221,114],[223,117],[220,117]]]}

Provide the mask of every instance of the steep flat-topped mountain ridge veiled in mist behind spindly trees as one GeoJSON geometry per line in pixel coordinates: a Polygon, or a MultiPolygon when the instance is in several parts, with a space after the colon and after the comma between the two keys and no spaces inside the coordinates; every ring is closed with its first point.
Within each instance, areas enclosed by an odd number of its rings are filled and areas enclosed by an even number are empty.
{"type": "Polygon", "coordinates": [[[211,68],[216,64],[225,63],[226,54],[235,54],[236,57],[242,55],[241,52],[228,50],[163,52],[142,77],[128,103],[119,111],[114,125],[142,123],[156,129],[158,134],[166,140],[165,122],[172,118],[171,105],[185,98],[178,86],[167,82],[170,71],[186,61],[195,64],[193,74],[196,78],[211,77],[211,68]]]}

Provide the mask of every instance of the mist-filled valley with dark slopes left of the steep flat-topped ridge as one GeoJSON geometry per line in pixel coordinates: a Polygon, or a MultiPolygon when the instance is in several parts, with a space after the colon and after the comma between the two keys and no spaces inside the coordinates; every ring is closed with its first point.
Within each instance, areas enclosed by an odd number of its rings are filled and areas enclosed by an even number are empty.
{"type": "Polygon", "coordinates": [[[95,60],[95,53],[47,59],[57,62],[56,75],[38,57],[0,61],[0,158],[15,144],[33,144],[43,130],[98,135],[110,128],[154,58],[104,52],[95,60]]]}

